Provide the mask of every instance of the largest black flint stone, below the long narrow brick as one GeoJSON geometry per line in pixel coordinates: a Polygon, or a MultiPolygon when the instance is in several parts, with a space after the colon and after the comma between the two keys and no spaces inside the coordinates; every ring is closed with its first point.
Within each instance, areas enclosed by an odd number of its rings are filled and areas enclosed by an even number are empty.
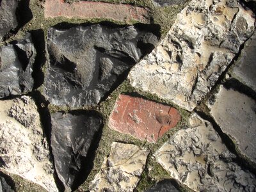
{"type": "Polygon", "coordinates": [[[118,77],[156,44],[155,35],[134,26],[51,28],[44,95],[57,106],[98,104],[118,77]]]}

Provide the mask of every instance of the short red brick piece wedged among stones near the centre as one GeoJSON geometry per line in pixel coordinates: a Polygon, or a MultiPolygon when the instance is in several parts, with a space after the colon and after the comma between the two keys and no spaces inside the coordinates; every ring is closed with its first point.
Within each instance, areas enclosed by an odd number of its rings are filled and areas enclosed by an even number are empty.
{"type": "Polygon", "coordinates": [[[108,126],[140,140],[156,143],[180,121],[177,109],[139,97],[119,95],[108,126]]]}

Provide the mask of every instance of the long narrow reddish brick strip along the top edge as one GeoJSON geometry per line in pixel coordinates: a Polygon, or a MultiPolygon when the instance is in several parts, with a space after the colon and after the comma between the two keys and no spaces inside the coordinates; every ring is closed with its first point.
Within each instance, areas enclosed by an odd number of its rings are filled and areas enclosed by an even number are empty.
{"type": "Polygon", "coordinates": [[[81,19],[110,19],[126,23],[134,20],[150,23],[148,10],[130,4],[112,4],[92,1],[65,3],[63,0],[46,0],[44,5],[45,18],[67,17],[81,19]]]}

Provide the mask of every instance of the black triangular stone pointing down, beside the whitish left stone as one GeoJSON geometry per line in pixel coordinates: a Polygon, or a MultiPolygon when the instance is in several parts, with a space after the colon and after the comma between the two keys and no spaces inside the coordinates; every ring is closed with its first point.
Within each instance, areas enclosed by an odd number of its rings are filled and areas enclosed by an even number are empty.
{"type": "Polygon", "coordinates": [[[56,172],[69,191],[74,180],[79,179],[83,159],[102,127],[102,118],[88,111],[86,113],[51,114],[51,147],[56,172]]]}

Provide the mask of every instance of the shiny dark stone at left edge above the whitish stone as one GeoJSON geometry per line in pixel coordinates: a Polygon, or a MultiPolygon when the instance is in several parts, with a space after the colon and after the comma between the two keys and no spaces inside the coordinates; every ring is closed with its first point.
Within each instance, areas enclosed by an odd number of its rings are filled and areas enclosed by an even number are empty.
{"type": "Polygon", "coordinates": [[[31,92],[35,57],[29,33],[24,40],[0,47],[0,98],[31,92]]]}

